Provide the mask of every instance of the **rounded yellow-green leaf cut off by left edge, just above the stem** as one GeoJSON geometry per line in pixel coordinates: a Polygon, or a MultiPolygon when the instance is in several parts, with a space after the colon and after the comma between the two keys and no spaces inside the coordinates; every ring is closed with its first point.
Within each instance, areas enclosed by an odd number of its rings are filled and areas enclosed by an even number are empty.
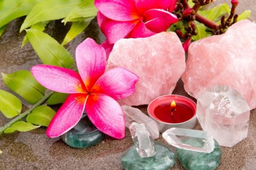
{"type": "Polygon", "coordinates": [[[13,94],[0,90],[0,111],[8,119],[17,116],[21,113],[21,100],[13,94]]]}

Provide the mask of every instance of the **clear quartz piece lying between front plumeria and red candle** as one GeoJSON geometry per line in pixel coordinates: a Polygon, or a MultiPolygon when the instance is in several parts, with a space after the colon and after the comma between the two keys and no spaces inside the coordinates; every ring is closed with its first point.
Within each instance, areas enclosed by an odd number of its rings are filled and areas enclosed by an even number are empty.
{"type": "Polygon", "coordinates": [[[144,123],[152,138],[154,140],[159,138],[158,126],[149,116],[131,106],[122,106],[122,110],[125,113],[126,127],[129,128],[132,122],[144,123]]]}

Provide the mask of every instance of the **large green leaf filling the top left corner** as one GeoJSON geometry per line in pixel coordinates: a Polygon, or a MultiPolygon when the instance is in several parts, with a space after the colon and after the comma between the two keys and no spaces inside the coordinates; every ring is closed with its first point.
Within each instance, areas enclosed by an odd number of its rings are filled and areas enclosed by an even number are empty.
{"type": "Polygon", "coordinates": [[[5,0],[0,2],[0,27],[18,17],[26,16],[42,0],[5,0]]]}

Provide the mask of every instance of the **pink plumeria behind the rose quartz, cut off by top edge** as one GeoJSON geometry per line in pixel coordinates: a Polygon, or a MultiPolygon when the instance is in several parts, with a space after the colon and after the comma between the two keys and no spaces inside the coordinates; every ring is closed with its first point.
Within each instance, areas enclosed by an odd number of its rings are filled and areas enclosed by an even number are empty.
{"type": "Polygon", "coordinates": [[[95,0],[98,23],[107,43],[143,38],[166,31],[178,18],[167,11],[176,0],[95,0]]]}

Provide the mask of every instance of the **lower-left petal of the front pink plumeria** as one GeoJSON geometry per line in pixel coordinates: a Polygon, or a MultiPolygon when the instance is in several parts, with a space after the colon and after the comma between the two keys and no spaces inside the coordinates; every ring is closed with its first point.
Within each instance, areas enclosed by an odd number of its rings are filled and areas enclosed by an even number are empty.
{"type": "Polygon", "coordinates": [[[48,137],[58,137],[69,131],[80,121],[85,109],[87,95],[71,94],[57,111],[46,130],[48,137]]]}

